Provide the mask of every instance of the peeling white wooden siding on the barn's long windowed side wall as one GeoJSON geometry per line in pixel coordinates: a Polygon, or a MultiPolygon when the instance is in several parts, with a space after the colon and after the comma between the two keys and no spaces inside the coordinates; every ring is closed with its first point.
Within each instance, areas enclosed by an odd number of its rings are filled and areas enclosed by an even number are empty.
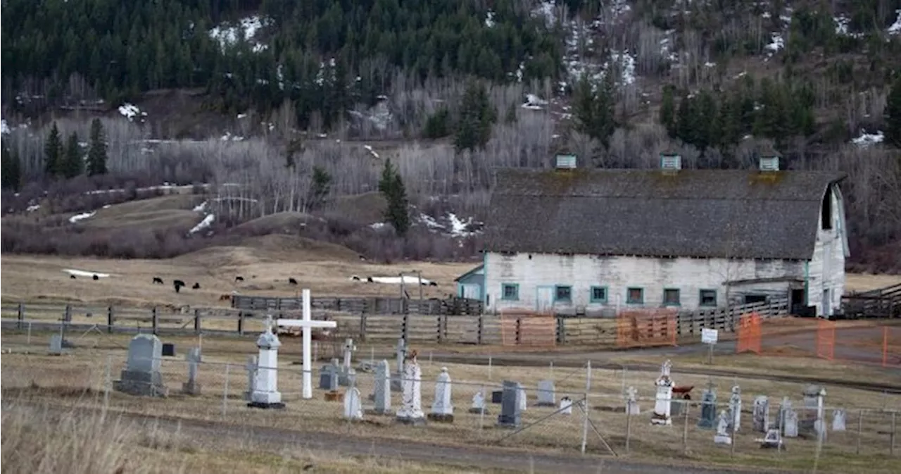
{"type": "MultiPolygon", "coordinates": [[[[804,278],[804,262],[796,260],[726,260],[726,259],[653,259],[643,257],[600,257],[596,255],[560,255],[520,253],[502,255],[487,253],[485,257],[485,293],[487,309],[538,309],[542,300],[551,297],[551,305],[560,313],[584,308],[587,314],[599,313],[604,307],[626,305],[626,290],[642,287],[644,306],[663,304],[664,288],[679,290],[680,306],[694,309],[699,305],[700,290],[716,290],[717,305],[726,302],[726,281],[758,278],[804,278]],[[501,298],[504,284],[519,286],[519,299],[501,298]],[[553,302],[553,288],[572,287],[572,302],[553,302]],[[591,303],[591,287],[606,287],[606,304],[591,303]],[[540,295],[542,297],[540,297],[540,295]]],[[[785,281],[743,283],[729,289],[736,294],[786,295],[785,281]]],[[[638,305],[635,305],[638,306],[638,305]]]]}

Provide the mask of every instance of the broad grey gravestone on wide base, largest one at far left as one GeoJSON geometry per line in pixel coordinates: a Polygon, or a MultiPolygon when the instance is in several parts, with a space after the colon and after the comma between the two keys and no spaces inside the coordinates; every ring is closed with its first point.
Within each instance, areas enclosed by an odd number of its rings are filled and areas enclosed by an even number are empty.
{"type": "Polygon", "coordinates": [[[159,373],[162,343],[153,334],[138,334],[128,344],[128,362],[113,383],[116,391],[141,397],[166,397],[168,389],[159,373]]]}

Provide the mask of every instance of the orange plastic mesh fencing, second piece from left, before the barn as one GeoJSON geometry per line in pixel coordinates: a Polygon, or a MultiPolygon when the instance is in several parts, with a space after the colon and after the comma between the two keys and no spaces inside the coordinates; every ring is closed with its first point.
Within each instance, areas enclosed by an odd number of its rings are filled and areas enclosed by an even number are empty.
{"type": "Polygon", "coordinates": [[[671,308],[629,309],[616,315],[616,345],[676,345],[676,314],[671,308]]]}

